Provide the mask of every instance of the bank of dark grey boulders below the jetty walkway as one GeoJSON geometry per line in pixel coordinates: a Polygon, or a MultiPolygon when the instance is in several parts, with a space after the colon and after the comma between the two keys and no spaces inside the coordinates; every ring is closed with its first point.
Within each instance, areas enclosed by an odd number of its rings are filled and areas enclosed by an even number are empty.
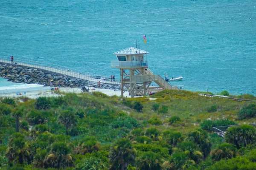
{"type": "MultiPolygon", "coordinates": [[[[9,79],[12,82],[23,82],[23,83],[37,83],[44,86],[49,86],[49,81],[53,79],[53,85],[57,87],[59,84],[61,87],[82,87],[82,86],[92,86],[98,88],[97,82],[90,82],[84,79],[77,79],[68,77],[67,75],[54,74],[49,72],[44,72],[44,70],[39,70],[36,68],[29,67],[17,67],[13,65],[0,65],[0,77],[9,79]]],[[[120,90],[120,85],[102,84],[102,88],[120,90]]]]}

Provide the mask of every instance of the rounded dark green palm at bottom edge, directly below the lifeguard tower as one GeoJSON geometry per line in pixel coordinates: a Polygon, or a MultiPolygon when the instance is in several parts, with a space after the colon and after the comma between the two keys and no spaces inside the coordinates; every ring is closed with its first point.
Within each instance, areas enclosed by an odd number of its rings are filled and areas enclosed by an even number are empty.
{"type": "Polygon", "coordinates": [[[121,170],[128,167],[135,159],[136,150],[132,148],[129,139],[120,138],[112,145],[109,153],[110,161],[113,162],[116,168],[121,165],[121,170]]]}

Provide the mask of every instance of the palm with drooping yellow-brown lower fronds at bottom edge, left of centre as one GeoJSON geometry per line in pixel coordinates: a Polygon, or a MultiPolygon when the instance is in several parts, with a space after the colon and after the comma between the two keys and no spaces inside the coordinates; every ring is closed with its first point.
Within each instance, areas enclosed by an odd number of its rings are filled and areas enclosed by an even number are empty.
{"type": "Polygon", "coordinates": [[[70,156],[70,147],[64,142],[52,144],[51,153],[44,159],[44,168],[63,168],[72,167],[73,160],[70,156]]]}

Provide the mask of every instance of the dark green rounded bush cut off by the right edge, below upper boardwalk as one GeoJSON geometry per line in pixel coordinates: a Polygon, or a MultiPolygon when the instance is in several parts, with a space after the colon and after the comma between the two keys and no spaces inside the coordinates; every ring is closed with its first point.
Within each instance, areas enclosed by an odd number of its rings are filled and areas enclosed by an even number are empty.
{"type": "Polygon", "coordinates": [[[251,117],[256,116],[256,104],[252,103],[248,106],[244,106],[238,113],[238,119],[249,119],[251,117]]]}

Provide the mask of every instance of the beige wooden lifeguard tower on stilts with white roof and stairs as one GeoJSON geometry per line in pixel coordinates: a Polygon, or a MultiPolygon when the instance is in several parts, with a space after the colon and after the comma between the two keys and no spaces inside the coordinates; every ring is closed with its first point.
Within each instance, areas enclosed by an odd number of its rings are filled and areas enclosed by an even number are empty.
{"type": "Polygon", "coordinates": [[[178,89],[172,87],[168,82],[157,74],[153,74],[148,69],[147,51],[129,47],[114,53],[118,61],[111,61],[111,67],[120,69],[121,96],[125,91],[131,97],[146,96],[147,91],[154,89],[178,89]],[[156,82],[159,87],[149,87],[152,82],[156,82]]]}

